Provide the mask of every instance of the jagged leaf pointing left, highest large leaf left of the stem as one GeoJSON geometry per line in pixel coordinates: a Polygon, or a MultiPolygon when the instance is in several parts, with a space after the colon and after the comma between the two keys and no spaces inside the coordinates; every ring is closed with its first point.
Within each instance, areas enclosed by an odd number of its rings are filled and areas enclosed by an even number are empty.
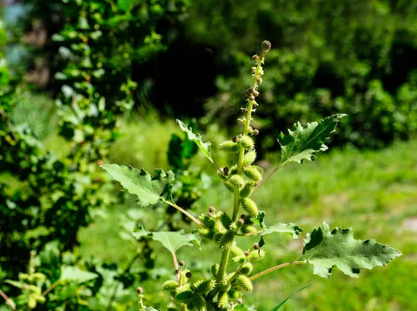
{"type": "Polygon", "coordinates": [[[155,176],[145,171],[145,169],[134,169],[133,167],[119,166],[116,164],[101,165],[111,176],[131,194],[136,194],[138,205],[141,208],[150,204],[156,204],[159,200],[172,201],[172,184],[174,173],[155,169],[155,176]]]}

